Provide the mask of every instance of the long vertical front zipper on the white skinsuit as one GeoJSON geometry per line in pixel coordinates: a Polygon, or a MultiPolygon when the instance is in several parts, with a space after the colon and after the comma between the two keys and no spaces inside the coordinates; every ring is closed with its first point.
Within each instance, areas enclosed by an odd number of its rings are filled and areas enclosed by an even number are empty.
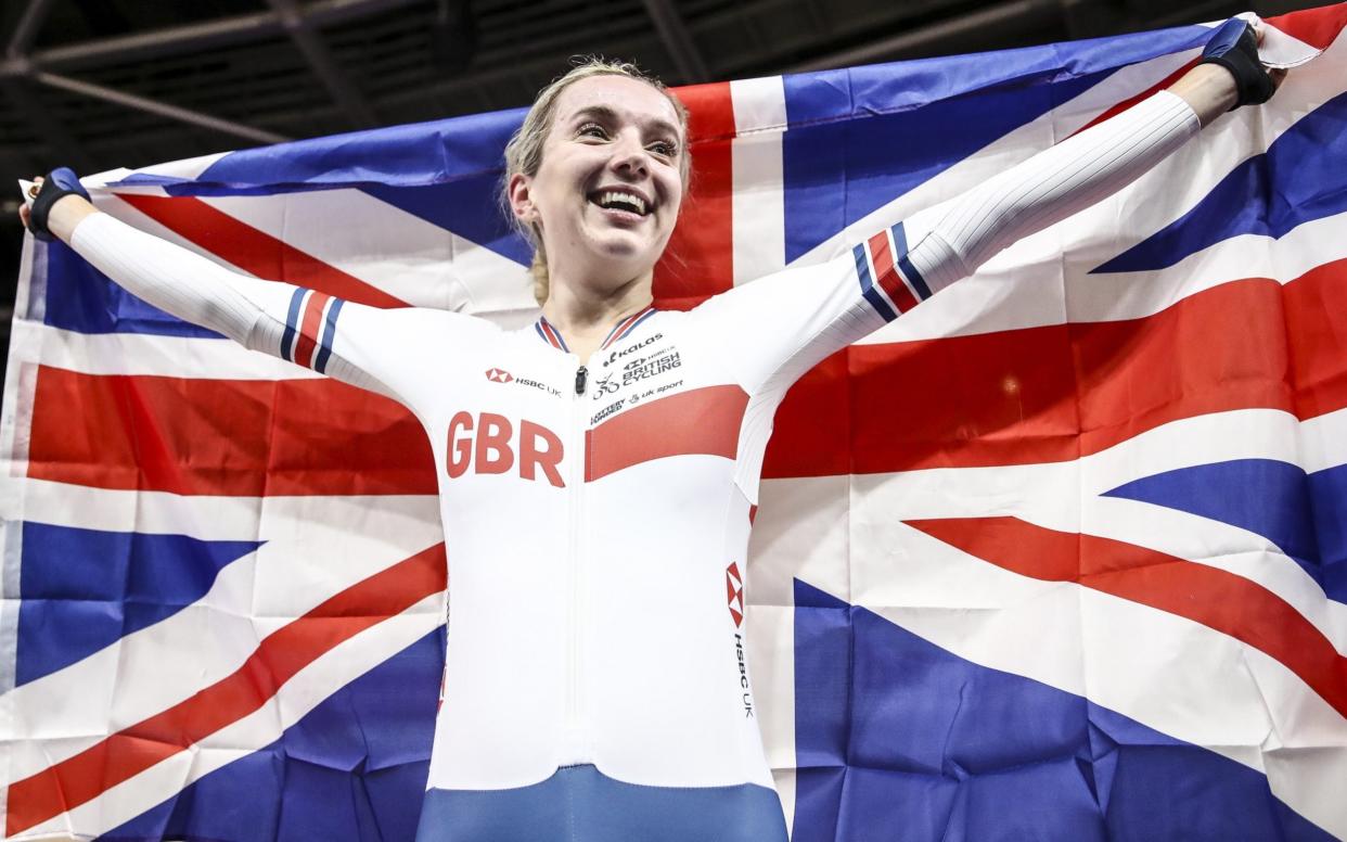
{"type": "Polygon", "coordinates": [[[567,764],[583,764],[590,763],[587,749],[587,740],[583,727],[583,698],[581,692],[581,674],[583,671],[582,655],[583,655],[583,641],[581,624],[585,618],[583,610],[583,575],[585,575],[585,465],[589,462],[589,454],[585,451],[585,393],[589,388],[589,368],[581,365],[575,370],[575,396],[571,400],[571,431],[574,443],[571,445],[571,453],[575,454],[572,462],[574,467],[571,470],[571,558],[570,558],[570,582],[568,582],[568,606],[571,613],[571,628],[570,628],[570,641],[568,641],[568,666],[567,672],[567,694],[566,694],[566,748],[564,752],[567,757],[564,763],[567,764]]]}

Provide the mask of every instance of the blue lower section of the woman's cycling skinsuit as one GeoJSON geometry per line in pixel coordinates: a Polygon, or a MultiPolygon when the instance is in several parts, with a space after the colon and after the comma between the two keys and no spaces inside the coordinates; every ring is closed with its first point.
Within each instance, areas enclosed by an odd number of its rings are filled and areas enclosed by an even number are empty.
{"type": "Polygon", "coordinates": [[[430,789],[416,842],[787,842],[776,792],[644,787],[593,765],[517,789],[430,789]]]}

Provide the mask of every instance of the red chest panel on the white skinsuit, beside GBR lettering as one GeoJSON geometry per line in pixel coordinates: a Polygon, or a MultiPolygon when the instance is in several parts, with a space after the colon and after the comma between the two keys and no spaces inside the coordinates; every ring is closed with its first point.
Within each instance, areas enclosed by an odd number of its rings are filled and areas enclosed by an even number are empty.
{"type": "Polygon", "coordinates": [[[749,396],[740,387],[713,385],[616,415],[585,435],[585,481],[663,457],[706,454],[733,459],[748,406],[749,396]]]}

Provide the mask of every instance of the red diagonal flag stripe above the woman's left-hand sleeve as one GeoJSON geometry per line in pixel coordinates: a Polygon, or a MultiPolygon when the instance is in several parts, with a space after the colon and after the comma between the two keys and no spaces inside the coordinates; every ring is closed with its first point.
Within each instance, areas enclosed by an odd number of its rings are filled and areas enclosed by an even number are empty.
{"type": "Polygon", "coordinates": [[[240,222],[191,197],[117,194],[120,199],[189,242],[265,280],[283,280],[373,307],[405,307],[407,302],[327,265],[298,248],[240,222]]]}

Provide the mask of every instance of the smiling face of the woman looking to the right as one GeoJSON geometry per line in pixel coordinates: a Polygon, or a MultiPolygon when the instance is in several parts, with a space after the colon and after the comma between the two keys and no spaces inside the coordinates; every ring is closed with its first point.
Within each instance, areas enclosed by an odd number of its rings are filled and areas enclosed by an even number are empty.
{"type": "Polygon", "coordinates": [[[655,267],[683,202],[678,112],[661,92],[594,75],[556,100],[543,162],[516,175],[511,203],[541,228],[554,280],[624,283],[655,267]]]}

